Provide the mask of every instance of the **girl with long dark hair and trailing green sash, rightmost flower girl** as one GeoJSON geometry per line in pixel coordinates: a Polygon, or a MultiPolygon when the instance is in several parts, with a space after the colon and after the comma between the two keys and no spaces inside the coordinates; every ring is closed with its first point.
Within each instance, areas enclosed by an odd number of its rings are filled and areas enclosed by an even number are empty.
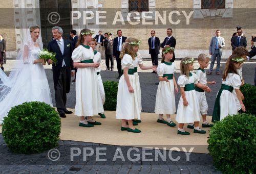
{"type": "Polygon", "coordinates": [[[242,84],[241,77],[237,72],[241,69],[243,61],[244,58],[237,55],[231,55],[228,58],[222,76],[221,89],[215,100],[212,122],[220,121],[227,115],[237,114],[241,108],[245,111],[244,96],[239,89],[242,84]]]}

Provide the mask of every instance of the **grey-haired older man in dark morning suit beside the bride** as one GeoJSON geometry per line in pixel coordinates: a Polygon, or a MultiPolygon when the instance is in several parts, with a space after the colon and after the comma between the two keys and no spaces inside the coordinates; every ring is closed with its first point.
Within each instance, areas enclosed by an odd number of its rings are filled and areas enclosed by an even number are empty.
{"type": "Polygon", "coordinates": [[[60,27],[52,28],[54,40],[48,43],[48,51],[56,53],[57,64],[49,59],[47,62],[52,64],[53,83],[55,90],[55,103],[60,117],[65,118],[65,114],[71,114],[66,108],[67,95],[70,91],[71,73],[74,76],[73,60],[71,59],[71,42],[62,38],[63,30],[60,27]]]}

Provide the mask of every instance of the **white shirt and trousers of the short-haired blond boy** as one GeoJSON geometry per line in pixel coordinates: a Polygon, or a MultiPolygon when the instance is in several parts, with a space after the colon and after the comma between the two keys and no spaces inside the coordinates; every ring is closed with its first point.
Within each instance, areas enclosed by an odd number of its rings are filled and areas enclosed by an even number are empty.
{"type": "MultiPolygon", "coordinates": [[[[198,82],[200,82],[203,85],[207,85],[207,77],[204,69],[199,68],[197,70],[197,77],[198,77],[198,82]]],[[[200,106],[200,112],[202,115],[207,114],[208,111],[208,104],[206,101],[206,96],[204,90],[196,87],[196,94],[197,94],[197,99],[199,102],[200,106]]]]}

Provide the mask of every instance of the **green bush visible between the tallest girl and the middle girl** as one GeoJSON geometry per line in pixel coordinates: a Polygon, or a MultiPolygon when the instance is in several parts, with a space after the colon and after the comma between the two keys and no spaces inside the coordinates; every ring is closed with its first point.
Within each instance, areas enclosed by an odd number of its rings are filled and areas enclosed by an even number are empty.
{"type": "Polygon", "coordinates": [[[104,86],[105,98],[106,98],[104,103],[104,110],[115,111],[118,82],[106,81],[106,82],[103,82],[103,86],[104,86]]]}

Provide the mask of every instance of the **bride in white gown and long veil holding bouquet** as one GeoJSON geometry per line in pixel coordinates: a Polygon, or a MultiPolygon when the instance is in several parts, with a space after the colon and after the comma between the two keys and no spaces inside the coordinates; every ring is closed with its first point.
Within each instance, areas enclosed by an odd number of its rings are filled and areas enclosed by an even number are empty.
{"type": "Polygon", "coordinates": [[[45,102],[52,106],[43,66],[46,62],[38,58],[41,50],[40,29],[38,26],[30,26],[9,77],[0,69],[0,125],[13,106],[31,101],[45,102]]]}

